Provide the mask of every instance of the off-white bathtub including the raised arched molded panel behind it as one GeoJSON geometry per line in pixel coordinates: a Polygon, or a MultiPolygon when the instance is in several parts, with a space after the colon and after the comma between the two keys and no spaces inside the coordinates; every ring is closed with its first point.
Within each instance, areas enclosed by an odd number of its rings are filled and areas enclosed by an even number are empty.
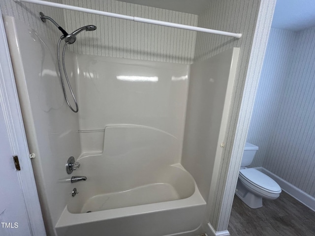
{"type": "Polygon", "coordinates": [[[104,129],[101,153],[83,153],[72,176],[58,236],[194,235],[205,201],[193,177],[173,155],[176,137],[147,126],[104,129]],[[71,191],[77,189],[76,196],[71,191]]]}

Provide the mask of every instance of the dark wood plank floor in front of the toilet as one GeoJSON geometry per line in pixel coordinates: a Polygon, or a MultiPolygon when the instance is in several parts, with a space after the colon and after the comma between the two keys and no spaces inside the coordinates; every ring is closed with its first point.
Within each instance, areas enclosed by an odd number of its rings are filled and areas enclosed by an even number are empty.
{"type": "Polygon", "coordinates": [[[257,209],[235,196],[228,231],[231,236],[315,236],[315,212],[285,192],[257,209]]]}

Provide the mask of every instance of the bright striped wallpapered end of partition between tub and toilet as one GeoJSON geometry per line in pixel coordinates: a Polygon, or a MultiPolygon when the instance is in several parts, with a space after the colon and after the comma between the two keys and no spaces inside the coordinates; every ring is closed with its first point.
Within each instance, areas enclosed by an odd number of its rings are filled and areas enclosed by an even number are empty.
{"type": "MultiPolygon", "coordinates": [[[[224,188],[223,196],[221,197],[220,194],[217,194],[216,198],[217,201],[219,200],[218,205],[220,204],[220,201],[222,202],[221,206],[219,206],[221,209],[218,220],[218,231],[226,229],[228,225],[275,5],[276,0],[263,0],[260,2],[256,29],[252,41],[252,51],[248,63],[245,86],[243,89],[242,102],[239,112],[235,111],[235,108],[231,109],[231,117],[233,118],[233,116],[238,116],[238,118],[231,119],[237,121],[236,127],[230,125],[230,130],[227,130],[226,132],[226,142],[233,142],[233,147],[231,148],[227,146],[227,148],[224,148],[225,153],[223,154],[222,167],[225,166],[225,163],[228,163],[228,171],[227,174],[223,174],[223,177],[220,177],[221,180],[225,180],[223,182],[225,186],[223,184],[223,186],[219,185],[218,187],[218,193],[220,193],[224,188]],[[234,137],[233,133],[235,133],[234,137]]],[[[226,173],[226,170],[223,169],[223,172],[226,173]]],[[[216,207],[216,209],[218,209],[218,207],[216,207]]]]}

